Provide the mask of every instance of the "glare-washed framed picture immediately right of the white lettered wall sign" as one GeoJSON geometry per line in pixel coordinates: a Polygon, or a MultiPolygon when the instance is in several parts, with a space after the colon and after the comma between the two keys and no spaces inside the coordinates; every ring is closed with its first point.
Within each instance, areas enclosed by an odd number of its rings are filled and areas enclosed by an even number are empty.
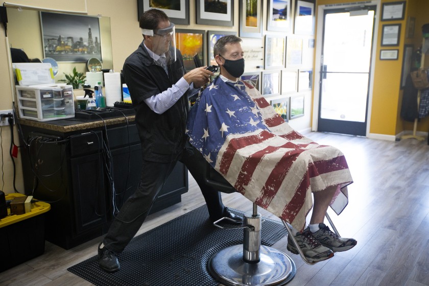
{"type": "Polygon", "coordinates": [[[265,36],[265,69],[284,66],[284,37],[265,36]]]}

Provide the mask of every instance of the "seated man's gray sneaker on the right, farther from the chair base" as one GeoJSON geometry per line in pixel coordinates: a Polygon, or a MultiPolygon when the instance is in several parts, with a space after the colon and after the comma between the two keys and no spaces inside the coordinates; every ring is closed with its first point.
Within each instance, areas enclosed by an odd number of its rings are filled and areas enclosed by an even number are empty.
{"type": "Polygon", "coordinates": [[[332,251],[346,251],[353,248],[358,242],[354,239],[345,239],[332,232],[324,223],[319,224],[319,230],[313,233],[314,237],[323,246],[332,251]]]}

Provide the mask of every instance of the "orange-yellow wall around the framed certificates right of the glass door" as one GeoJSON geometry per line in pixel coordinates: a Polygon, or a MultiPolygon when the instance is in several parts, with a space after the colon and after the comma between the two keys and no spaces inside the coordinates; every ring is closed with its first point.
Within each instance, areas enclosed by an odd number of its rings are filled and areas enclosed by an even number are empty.
{"type": "MultiPolygon", "coordinates": [[[[376,43],[376,59],[374,66],[374,84],[372,93],[372,109],[370,133],[398,135],[404,130],[413,130],[413,123],[403,121],[400,117],[400,108],[402,102],[402,90],[400,89],[400,79],[402,70],[403,45],[414,44],[414,49],[421,45],[422,32],[421,26],[429,22],[427,12],[429,11],[429,1],[427,0],[407,0],[406,15],[403,20],[379,21],[381,18],[382,4],[402,0],[382,0],[377,12],[378,33],[376,43]],[[408,17],[416,18],[415,32],[413,38],[406,38],[406,28],[408,17]],[[383,25],[400,23],[401,32],[399,46],[381,46],[383,25]],[[380,50],[399,49],[398,60],[386,61],[379,60],[380,50]]],[[[317,0],[317,5],[348,3],[347,0],[317,0]]],[[[317,40],[317,39],[316,39],[317,40]]],[[[429,56],[427,57],[429,58],[429,56]]],[[[427,63],[426,61],[426,66],[427,63]]],[[[429,117],[425,117],[418,124],[417,131],[427,132],[429,130],[429,117]]]]}

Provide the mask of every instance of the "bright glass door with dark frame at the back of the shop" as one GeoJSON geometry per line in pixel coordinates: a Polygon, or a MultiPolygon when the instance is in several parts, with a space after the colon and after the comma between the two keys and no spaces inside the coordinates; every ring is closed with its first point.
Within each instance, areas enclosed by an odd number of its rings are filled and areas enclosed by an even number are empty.
{"type": "Polygon", "coordinates": [[[325,10],[318,131],[366,135],[374,14],[325,10]]]}

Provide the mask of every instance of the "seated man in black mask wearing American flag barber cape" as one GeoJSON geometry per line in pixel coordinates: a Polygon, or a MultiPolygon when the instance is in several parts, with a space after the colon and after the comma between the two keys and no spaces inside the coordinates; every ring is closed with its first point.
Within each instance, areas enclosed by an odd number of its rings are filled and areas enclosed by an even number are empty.
{"type": "MultiPolygon", "coordinates": [[[[329,205],[337,214],[347,205],[352,178],[344,155],[294,131],[256,88],[239,79],[244,71],[240,42],[225,36],[214,45],[220,76],[189,113],[190,143],[238,192],[290,223],[308,260],[352,248],[354,239],[339,237],[323,224],[329,205]]],[[[297,254],[290,237],[288,250],[297,254]]]]}

